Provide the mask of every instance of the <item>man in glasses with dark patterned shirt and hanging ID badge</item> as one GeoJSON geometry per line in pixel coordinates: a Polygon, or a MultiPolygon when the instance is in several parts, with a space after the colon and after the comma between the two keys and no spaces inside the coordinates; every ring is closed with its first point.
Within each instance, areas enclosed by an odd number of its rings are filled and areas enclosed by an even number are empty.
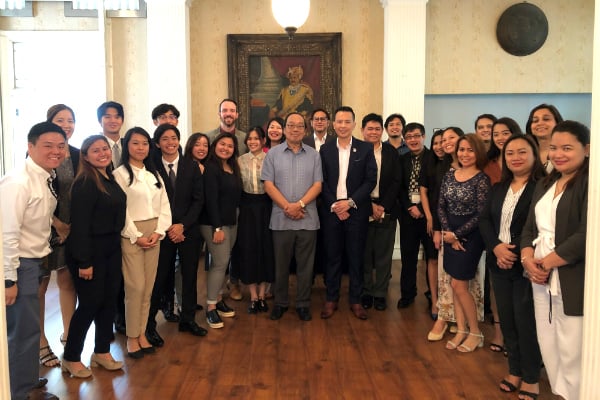
{"type": "MultiPolygon", "coordinates": [[[[401,298],[398,308],[406,308],[415,301],[417,295],[417,261],[419,246],[423,244],[427,260],[432,257],[433,242],[427,235],[427,220],[421,205],[419,177],[421,167],[431,157],[425,148],[425,127],[417,122],[407,124],[402,130],[404,142],[409,152],[400,157],[402,164],[402,185],[400,188],[400,273],[401,298]]],[[[432,282],[437,285],[437,282],[432,282]]]]}

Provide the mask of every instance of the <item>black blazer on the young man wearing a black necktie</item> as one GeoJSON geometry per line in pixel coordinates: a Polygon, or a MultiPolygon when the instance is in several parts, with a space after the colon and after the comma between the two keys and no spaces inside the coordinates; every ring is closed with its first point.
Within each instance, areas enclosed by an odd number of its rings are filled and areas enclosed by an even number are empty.
{"type": "Polygon", "coordinates": [[[173,188],[161,157],[160,154],[157,154],[154,162],[165,183],[165,190],[171,205],[172,223],[183,224],[184,230],[187,231],[198,225],[204,205],[202,173],[196,162],[180,155],[175,188],[173,188]]]}

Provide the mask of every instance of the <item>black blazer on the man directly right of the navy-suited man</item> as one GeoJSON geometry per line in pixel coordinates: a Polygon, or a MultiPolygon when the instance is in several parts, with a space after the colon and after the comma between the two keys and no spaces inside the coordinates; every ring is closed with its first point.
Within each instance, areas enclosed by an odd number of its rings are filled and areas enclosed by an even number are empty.
{"type": "Polygon", "coordinates": [[[379,200],[385,213],[392,219],[398,218],[398,193],[402,168],[398,151],[389,143],[381,143],[381,173],[379,174],[379,200]]]}

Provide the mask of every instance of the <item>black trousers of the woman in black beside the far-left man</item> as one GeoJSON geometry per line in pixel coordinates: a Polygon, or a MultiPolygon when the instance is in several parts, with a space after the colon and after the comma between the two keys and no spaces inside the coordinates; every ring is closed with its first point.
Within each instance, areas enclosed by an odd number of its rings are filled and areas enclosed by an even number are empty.
{"type": "Polygon", "coordinates": [[[94,353],[108,353],[113,337],[112,323],[123,282],[121,236],[119,233],[95,236],[92,243],[94,272],[91,280],[79,278],[79,269],[69,265],[79,302],[69,325],[64,353],[67,361],[81,361],[85,337],[92,321],[96,326],[94,353]]]}

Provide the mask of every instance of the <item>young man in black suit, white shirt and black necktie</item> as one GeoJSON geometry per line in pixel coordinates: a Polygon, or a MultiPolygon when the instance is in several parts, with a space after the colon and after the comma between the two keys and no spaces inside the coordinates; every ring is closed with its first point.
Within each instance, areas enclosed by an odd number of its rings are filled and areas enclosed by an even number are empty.
{"type": "Polygon", "coordinates": [[[202,174],[198,165],[179,153],[180,133],[171,124],[162,124],[154,131],[153,142],[160,150],[156,152],[155,164],[158,173],[165,183],[167,196],[171,205],[172,225],[160,244],[158,270],[152,298],[146,337],[154,346],[164,344],[156,331],[156,313],[160,308],[161,297],[165,289],[172,295],[172,276],[175,259],[179,252],[179,264],[182,275],[182,312],[179,320],[179,331],[190,332],[195,336],[206,335],[206,329],[196,324],[196,281],[198,260],[200,258],[200,229],[198,218],[204,202],[202,174]],[[165,288],[165,285],[168,287],[165,288]]]}

